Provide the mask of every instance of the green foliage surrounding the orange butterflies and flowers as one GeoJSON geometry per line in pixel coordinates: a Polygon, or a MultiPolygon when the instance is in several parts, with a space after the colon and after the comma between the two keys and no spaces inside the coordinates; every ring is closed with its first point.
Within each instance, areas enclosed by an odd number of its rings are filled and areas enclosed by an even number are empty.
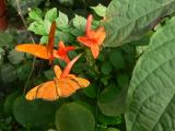
{"type": "MultiPolygon", "coordinates": [[[[18,9],[16,2],[9,2],[18,9]]],[[[52,66],[63,70],[67,63],[56,59],[49,66],[38,58],[33,62],[31,56],[14,51],[16,44],[31,43],[21,23],[20,29],[0,32],[0,130],[173,130],[174,0],[112,0],[109,4],[103,0],[21,0],[20,7],[23,14],[32,8],[24,19],[36,34],[32,34],[36,44],[48,43],[56,21],[55,49],[59,40],[75,46],[69,58],[81,52],[82,57],[71,73],[91,84],[55,102],[26,100],[25,90],[52,80],[52,66]],[[104,25],[107,35],[95,60],[77,41],[85,35],[90,13],[92,28],[104,25]]]]}

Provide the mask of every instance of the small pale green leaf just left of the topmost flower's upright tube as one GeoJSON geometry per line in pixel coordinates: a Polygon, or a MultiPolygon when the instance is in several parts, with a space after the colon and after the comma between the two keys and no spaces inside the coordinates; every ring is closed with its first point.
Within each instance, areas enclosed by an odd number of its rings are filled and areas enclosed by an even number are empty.
{"type": "Polygon", "coordinates": [[[80,29],[80,32],[84,32],[85,31],[85,24],[86,24],[86,20],[84,17],[75,14],[75,17],[73,19],[74,27],[80,29]]]}

